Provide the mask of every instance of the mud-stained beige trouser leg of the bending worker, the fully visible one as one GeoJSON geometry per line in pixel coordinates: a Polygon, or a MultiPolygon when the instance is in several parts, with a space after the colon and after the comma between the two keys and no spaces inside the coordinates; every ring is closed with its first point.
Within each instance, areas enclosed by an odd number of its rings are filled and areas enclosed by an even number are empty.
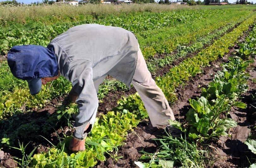
{"type": "Polygon", "coordinates": [[[168,120],[175,120],[164,93],[156,85],[151,73],[147,69],[140,49],[138,51],[137,66],[132,84],[144,103],[153,127],[168,125],[168,120]]]}

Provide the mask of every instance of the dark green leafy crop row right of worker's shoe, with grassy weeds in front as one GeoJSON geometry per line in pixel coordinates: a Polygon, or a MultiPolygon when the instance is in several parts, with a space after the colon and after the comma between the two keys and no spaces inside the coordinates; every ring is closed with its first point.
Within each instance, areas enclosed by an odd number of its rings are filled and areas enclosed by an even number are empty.
{"type": "MultiPolygon", "coordinates": [[[[247,39],[255,35],[255,28],[247,39]]],[[[247,42],[246,42],[247,43],[247,42]]],[[[241,46],[245,44],[240,44],[241,46]]],[[[252,55],[251,55],[252,56],[252,55]]],[[[237,101],[240,94],[247,89],[248,73],[246,68],[253,60],[244,61],[241,57],[233,56],[228,63],[224,63],[223,70],[219,71],[214,80],[203,89],[201,97],[197,100],[190,99],[190,106],[187,113],[188,126],[185,128],[177,121],[170,121],[170,124],[181,129],[184,134],[179,138],[171,135],[156,139],[160,141],[159,150],[154,153],[145,153],[141,160],[148,160],[147,163],[136,162],[140,168],[155,167],[162,165],[162,162],[172,161],[185,167],[212,166],[207,149],[207,140],[228,135],[226,131],[236,126],[236,122],[227,117],[231,106],[246,108],[246,104],[237,101]],[[218,89],[216,89],[218,87],[218,89]],[[220,114],[224,118],[220,118],[220,114]],[[160,163],[161,161],[161,163],[160,163]]],[[[255,154],[255,140],[247,139],[245,144],[255,154]]],[[[172,167],[172,166],[171,166],[172,167]]]]}

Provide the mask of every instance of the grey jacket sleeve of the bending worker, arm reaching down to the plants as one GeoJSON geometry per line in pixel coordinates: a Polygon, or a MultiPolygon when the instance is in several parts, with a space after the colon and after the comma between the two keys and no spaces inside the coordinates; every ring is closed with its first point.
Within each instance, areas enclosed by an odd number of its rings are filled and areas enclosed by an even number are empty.
{"type": "Polygon", "coordinates": [[[93,124],[98,109],[98,97],[92,80],[92,63],[85,60],[70,62],[68,79],[72,90],[77,93],[76,103],[79,109],[75,116],[74,137],[85,138],[84,130],[88,123],[93,124]]]}

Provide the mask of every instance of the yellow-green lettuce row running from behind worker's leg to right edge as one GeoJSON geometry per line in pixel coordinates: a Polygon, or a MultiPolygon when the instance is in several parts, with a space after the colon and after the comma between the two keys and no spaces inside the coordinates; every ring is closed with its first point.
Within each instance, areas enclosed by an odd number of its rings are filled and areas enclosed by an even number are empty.
{"type": "Polygon", "coordinates": [[[158,86],[163,89],[166,98],[174,102],[176,100],[175,88],[183,85],[190,77],[194,77],[201,69],[209,65],[209,62],[222,57],[229,51],[229,46],[235,44],[236,39],[243,34],[243,31],[253,24],[255,15],[240,24],[232,32],[216,40],[211,46],[200,51],[195,57],[184,60],[179,66],[170,69],[164,77],[157,78],[158,86]]]}

